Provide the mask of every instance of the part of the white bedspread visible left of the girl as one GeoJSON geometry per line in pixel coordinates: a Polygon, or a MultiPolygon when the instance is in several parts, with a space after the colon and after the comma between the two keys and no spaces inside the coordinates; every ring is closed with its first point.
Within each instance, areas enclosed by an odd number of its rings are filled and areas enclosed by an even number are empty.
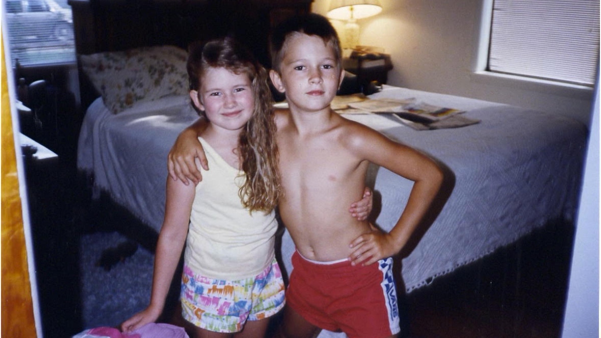
{"type": "Polygon", "coordinates": [[[79,134],[78,168],[93,174],[96,193],[109,193],[157,232],[165,213],[167,154],[180,131],[198,119],[189,100],[166,97],[114,115],[98,98],[79,134]]]}

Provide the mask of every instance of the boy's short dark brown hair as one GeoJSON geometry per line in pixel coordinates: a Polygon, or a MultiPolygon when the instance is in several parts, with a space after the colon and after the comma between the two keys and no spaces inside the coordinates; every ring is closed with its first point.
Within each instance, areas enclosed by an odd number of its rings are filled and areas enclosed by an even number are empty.
{"type": "Polygon", "coordinates": [[[338,67],[341,67],[342,52],[336,29],[334,29],[334,26],[332,26],[326,17],[316,13],[308,13],[302,16],[291,17],[273,29],[269,47],[271,65],[275,71],[279,73],[279,67],[282,59],[284,59],[286,39],[293,33],[315,35],[322,38],[325,43],[330,44],[332,49],[334,49],[338,67]]]}

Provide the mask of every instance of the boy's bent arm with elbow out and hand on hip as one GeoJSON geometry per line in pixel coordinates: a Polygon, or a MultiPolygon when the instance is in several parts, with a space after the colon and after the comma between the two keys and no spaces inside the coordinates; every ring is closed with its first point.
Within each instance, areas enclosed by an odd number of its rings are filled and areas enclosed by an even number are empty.
{"type": "Polygon", "coordinates": [[[349,257],[352,264],[368,265],[403,249],[438,195],[444,175],[431,158],[376,131],[364,130],[358,137],[353,150],[361,157],[414,182],[407,205],[391,231],[384,233],[374,228],[350,243],[355,249],[349,257]]]}

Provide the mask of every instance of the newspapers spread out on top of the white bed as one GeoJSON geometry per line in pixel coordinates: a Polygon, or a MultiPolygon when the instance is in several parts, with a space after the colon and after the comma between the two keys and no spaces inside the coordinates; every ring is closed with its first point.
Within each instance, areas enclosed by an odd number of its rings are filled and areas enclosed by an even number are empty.
{"type": "MultiPolygon", "coordinates": [[[[352,96],[352,95],[348,95],[352,96]]],[[[480,122],[459,114],[465,111],[447,107],[434,106],[416,101],[415,98],[398,100],[394,98],[349,98],[344,103],[332,106],[338,113],[378,113],[389,114],[403,124],[415,130],[432,130],[457,128],[480,122]],[[338,109],[336,109],[338,108],[338,109]]]]}

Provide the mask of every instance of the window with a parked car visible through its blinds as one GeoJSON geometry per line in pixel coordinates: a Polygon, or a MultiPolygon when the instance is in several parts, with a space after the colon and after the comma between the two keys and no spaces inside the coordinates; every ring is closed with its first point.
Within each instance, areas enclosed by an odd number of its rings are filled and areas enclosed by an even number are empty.
{"type": "Polygon", "coordinates": [[[67,0],[3,2],[13,67],[17,59],[22,67],[75,63],[73,16],[67,0]]]}

